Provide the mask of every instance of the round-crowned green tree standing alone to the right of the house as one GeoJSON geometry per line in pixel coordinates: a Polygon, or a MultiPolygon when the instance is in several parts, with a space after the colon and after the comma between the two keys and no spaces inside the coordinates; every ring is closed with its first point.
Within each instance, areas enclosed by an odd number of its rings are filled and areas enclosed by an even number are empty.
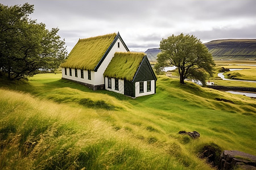
{"type": "Polygon", "coordinates": [[[160,41],[162,52],[158,54],[157,71],[162,67],[174,65],[180,76],[180,83],[184,79],[200,80],[205,85],[207,76],[213,75],[215,63],[207,47],[193,35],[172,35],[160,41]]]}

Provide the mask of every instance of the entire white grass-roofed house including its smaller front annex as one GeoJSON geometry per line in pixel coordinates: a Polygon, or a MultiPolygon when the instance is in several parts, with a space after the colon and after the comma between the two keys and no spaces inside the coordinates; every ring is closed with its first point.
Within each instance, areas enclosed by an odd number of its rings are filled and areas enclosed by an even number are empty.
{"type": "Polygon", "coordinates": [[[129,52],[119,32],[79,39],[61,67],[63,79],[92,90],[131,97],[156,92],[156,76],[146,54],[129,52]]]}

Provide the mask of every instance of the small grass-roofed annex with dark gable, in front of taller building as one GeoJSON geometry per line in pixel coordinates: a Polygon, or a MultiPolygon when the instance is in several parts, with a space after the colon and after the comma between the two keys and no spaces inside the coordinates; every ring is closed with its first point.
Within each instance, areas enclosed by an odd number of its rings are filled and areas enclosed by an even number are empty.
{"type": "Polygon", "coordinates": [[[156,92],[156,76],[144,53],[115,53],[104,76],[109,91],[131,97],[156,92]]]}

